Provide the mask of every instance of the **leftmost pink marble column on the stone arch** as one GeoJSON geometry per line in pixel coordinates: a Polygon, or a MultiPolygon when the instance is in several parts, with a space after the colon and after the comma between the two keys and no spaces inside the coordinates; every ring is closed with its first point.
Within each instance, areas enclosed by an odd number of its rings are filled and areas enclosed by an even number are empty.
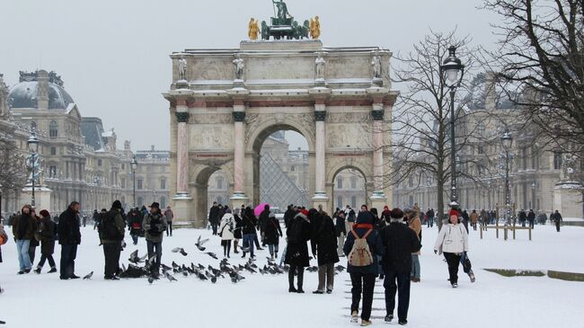
{"type": "Polygon", "coordinates": [[[176,106],[177,140],[176,140],[176,193],[177,196],[189,195],[189,159],[187,152],[187,122],[189,112],[185,102],[176,106]]]}

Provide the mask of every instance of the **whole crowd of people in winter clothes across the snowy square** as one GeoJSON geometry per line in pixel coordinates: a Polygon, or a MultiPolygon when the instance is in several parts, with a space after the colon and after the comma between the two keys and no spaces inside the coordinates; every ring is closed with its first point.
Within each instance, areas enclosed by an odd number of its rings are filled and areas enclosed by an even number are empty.
{"type": "MultiPolygon", "coordinates": [[[[48,273],[58,271],[52,254],[55,244],[61,247],[60,279],[78,279],[75,275],[77,246],[81,243],[80,226],[83,222],[79,214],[80,205],[73,201],[57,219],[51,218],[43,209],[39,215],[36,209],[25,205],[19,215],[11,218],[12,231],[18,253],[18,274],[30,273],[33,268],[36,248],[40,246],[40,261],[33,270],[40,274],[45,262],[49,262],[48,273]]],[[[448,277],[452,288],[458,286],[458,268],[463,264],[465,273],[474,281],[468,260],[468,223],[476,225],[491,220],[490,212],[451,209],[447,213],[444,226],[440,229],[434,244],[434,253],[443,255],[447,262],[448,277]]],[[[131,208],[124,213],[119,200],[115,200],[108,210],[93,211],[93,229],[98,230],[104,254],[104,279],[119,279],[119,257],[125,246],[126,228],[137,244],[139,237],[146,239],[147,258],[153,265],[151,275],[158,275],[163,256],[163,237],[173,235],[173,211],[170,207],[161,210],[152,203],[147,209],[131,208]]],[[[433,226],[435,213],[432,208],[423,212],[414,205],[411,209],[390,209],[387,206],[379,213],[376,208],[366,205],[356,212],[350,206],[336,208],[332,216],[318,208],[304,208],[289,205],[284,213],[285,234],[279,219],[269,205],[263,208],[242,206],[232,210],[228,206],[214,203],[209,210],[208,225],[212,234],[221,240],[224,258],[233,253],[242,253],[242,258],[254,258],[256,250],[268,249],[270,261],[280,258],[280,265],[288,265],[288,292],[304,293],[304,272],[311,259],[317,262],[318,286],[314,294],[331,294],[334,288],[335,267],[342,257],[347,258],[347,271],[351,281],[350,315],[352,322],[358,322],[359,305],[361,325],[371,324],[371,306],[376,279],[384,280],[385,322],[392,322],[397,302],[398,324],[407,324],[411,283],[420,282],[421,226],[433,226]],[[280,253],[280,239],[285,244],[280,253]],[[241,243],[241,246],[240,246],[241,243]],[[233,244],[233,248],[232,248],[233,244]],[[281,256],[279,256],[281,254],[281,256]]],[[[496,213],[495,213],[496,217],[496,213]]],[[[523,224],[523,215],[519,221],[523,224]]],[[[526,222],[532,225],[535,214],[529,211],[526,222]]],[[[562,216],[556,210],[551,219],[559,230],[562,216]]],[[[0,244],[5,244],[8,236],[0,228],[0,244]]],[[[0,252],[0,262],[2,261],[0,252]]]]}

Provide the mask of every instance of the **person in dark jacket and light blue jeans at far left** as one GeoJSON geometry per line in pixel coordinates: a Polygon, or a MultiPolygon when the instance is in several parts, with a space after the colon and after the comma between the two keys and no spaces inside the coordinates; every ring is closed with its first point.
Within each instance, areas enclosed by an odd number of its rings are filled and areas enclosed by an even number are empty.
{"type": "Polygon", "coordinates": [[[16,251],[18,252],[18,262],[20,270],[18,274],[31,272],[32,263],[29,253],[31,248],[31,239],[37,232],[37,220],[31,214],[31,205],[24,205],[21,209],[21,215],[13,219],[13,236],[16,242],[16,251]]]}

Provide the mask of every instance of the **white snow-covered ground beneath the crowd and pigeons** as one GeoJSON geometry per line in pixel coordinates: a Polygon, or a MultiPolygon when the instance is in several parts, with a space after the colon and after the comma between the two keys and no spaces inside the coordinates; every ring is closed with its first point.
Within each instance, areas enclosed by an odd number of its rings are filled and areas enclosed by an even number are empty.
{"type": "MultiPolygon", "coordinates": [[[[18,260],[11,241],[2,246],[4,263],[0,264],[0,320],[7,327],[350,327],[350,282],[346,272],[336,276],[332,295],[313,295],[317,274],[305,273],[306,294],[288,294],[286,275],[262,276],[245,274],[246,279],[233,284],[228,279],[213,285],[194,276],[177,282],[166,279],[148,285],[146,279],[102,279],[103,255],[93,227],[82,228],[83,242],[76,261],[76,273],[95,271],[92,280],[58,279],[58,273],[17,276],[18,260]]],[[[471,231],[469,257],[477,281],[471,284],[467,276],[459,279],[459,288],[450,288],[447,266],[431,249],[437,228],[424,228],[422,244],[421,282],[411,288],[409,324],[411,327],[584,327],[580,317],[584,301],[584,282],[569,282],[542,278],[505,278],[482,268],[566,270],[584,272],[582,236],[584,228],[562,226],[556,233],[553,226],[535,226],[533,241],[526,231],[518,231],[518,240],[495,239],[494,231],[479,238],[471,231]]],[[[196,250],[199,235],[208,230],[175,230],[173,237],[164,238],[163,262],[213,264],[217,260],[196,250]],[[171,253],[175,246],[189,253],[171,253]]],[[[502,234],[501,234],[502,235],[502,234]]],[[[122,253],[135,249],[146,252],[146,242],[140,239],[122,253]]],[[[208,250],[222,254],[217,239],[208,250]]],[[[60,247],[56,247],[58,262],[60,247]]],[[[258,253],[258,264],[266,262],[267,250],[258,253]]],[[[37,253],[37,261],[40,258],[37,253]]],[[[232,256],[230,262],[243,260],[232,256]]],[[[313,261],[315,264],[315,261],[313,261]]],[[[341,260],[346,266],[346,259],[341,260]]],[[[462,270],[461,270],[462,273],[462,270]]],[[[381,282],[376,287],[373,322],[383,326],[385,315],[381,282]]],[[[393,325],[397,325],[394,323],[393,325]]]]}

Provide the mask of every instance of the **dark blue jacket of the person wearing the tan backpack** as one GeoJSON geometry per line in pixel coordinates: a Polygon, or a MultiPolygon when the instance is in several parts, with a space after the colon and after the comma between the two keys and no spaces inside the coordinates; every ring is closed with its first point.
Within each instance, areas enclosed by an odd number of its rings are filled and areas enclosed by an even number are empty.
{"type": "MultiPolygon", "coordinates": [[[[357,233],[359,237],[367,234],[367,231],[373,228],[373,225],[370,224],[357,224],[353,226],[353,230],[355,230],[355,233],[357,233]]],[[[353,244],[355,244],[355,236],[349,232],[347,234],[347,240],[345,241],[345,244],[342,248],[342,251],[345,253],[345,255],[349,255],[350,250],[353,248],[353,244]]],[[[367,244],[369,245],[371,255],[373,255],[373,264],[368,265],[367,267],[354,267],[347,263],[347,272],[372,275],[379,274],[379,263],[377,259],[384,255],[385,249],[384,244],[381,242],[381,237],[375,229],[371,231],[369,235],[367,235],[367,244]]]]}

